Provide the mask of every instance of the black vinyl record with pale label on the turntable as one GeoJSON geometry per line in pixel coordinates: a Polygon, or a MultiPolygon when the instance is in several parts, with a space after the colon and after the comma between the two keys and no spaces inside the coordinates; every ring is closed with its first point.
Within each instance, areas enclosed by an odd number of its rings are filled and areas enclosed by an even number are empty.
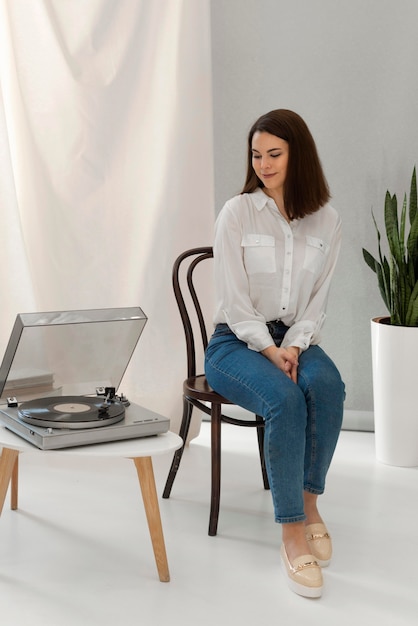
{"type": "Polygon", "coordinates": [[[34,426],[98,428],[123,420],[125,407],[118,401],[106,403],[101,397],[53,396],[24,402],[18,415],[34,426]]]}

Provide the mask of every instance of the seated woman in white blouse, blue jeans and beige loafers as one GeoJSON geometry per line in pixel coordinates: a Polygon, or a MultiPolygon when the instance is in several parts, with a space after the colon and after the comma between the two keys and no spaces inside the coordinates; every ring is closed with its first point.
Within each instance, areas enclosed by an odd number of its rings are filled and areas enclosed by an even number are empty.
{"type": "Polygon", "coordinates": [[[341,221],[312,135],[279,109],[248,136],[247,179],[215,226],[217,306],[209,384],[262,415],[281,559],[289,586],[322,593],[331,538],[317,498],[341,428],[344,384],[319,347],[341,221]]]}

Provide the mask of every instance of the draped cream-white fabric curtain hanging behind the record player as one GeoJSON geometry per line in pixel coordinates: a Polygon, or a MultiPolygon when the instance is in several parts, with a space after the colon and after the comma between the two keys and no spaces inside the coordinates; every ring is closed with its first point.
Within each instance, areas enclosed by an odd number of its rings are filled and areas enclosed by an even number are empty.
{"type": "Polygon", "coordinates": [[[214,219],[209,0],[0,7],[1,354],[19,312],[139,305],[121,391],[176,429],[171,266],[214,219]]]}

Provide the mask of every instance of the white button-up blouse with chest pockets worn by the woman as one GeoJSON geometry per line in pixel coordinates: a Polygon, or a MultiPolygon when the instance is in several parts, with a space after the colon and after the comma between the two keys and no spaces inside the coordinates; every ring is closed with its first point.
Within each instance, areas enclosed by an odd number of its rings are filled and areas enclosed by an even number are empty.
{"type": "Polygon", "coordinates": [[[287,221],[262,189],[229,200],[215,224],[214,323],[226,323],[252,350],[274,345],[266,322],[289,326],[282,346],[320,340],[341,244],[329,204],[287,221]]]}

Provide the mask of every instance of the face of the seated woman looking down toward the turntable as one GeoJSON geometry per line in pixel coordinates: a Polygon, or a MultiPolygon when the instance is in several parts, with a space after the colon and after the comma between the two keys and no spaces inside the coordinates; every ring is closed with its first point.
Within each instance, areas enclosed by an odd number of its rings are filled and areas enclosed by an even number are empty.
{"type": "Polygon", "coordinates": [[[252,166],[267,193],[283,194],[289,144],[270,133],[256,131],[251,142],[252,166]]]}

